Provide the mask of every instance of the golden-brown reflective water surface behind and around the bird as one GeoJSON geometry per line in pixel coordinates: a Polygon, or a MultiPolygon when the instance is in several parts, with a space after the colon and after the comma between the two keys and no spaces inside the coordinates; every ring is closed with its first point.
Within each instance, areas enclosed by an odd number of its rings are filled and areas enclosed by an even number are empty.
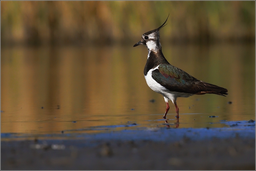
{"type": "MultiPolygon", "coordinates": [[[[229,90],[227,97],[178,98],[180,128],[255,119],[255,45],[164,44],[163,54],[195,78],[229,90]],[[218,117],[209,118],[213,115],[218,117]]],[[[165,127],[163,96],[144,79],[146,59],[147,49],[132,45],[2,48],[1,132],[54,133],[129,123],[165,127]]],[[[170,103],[171,127],[175,115],[170,103]]]]}

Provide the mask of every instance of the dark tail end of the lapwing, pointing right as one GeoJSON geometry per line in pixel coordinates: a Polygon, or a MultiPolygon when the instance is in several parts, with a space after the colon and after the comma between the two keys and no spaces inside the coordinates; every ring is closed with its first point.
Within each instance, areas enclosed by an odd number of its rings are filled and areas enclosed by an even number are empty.
{"type": "Polygon", "coordinates": [[[203,94],[216,94],[221,96],[228,95],[227,89],[213,85],[213,84],[209,84],[206,82],[200,81],[200,88],[201,90],[196,93],[197,95],[203,95],[203,94]]]}

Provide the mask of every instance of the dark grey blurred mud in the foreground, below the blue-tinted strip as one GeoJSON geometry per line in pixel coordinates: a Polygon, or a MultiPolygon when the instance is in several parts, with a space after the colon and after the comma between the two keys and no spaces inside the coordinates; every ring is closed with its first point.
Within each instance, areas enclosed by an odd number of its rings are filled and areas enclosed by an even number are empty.
{"type": "Polygon", "coordinates": [[[2,141],[1,170],[255,170],[255,139],[2,141]]]}

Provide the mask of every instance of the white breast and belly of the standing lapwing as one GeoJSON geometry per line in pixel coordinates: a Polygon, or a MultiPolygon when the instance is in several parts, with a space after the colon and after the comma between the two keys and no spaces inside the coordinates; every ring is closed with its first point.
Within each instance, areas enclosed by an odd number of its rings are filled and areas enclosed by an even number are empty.
{"type": "Polygon", "coordinates": [[[145,79],[146,79],[148,86],[152,90],[163,95],[163,97],[165,98],[165,102],[168,102],[169,100],[171,100],[174,103],[176,101],[177,97],[190,97],[193,95],[193,94],[188,94],[188,93],[169,91],[167,88],[161,86],[161,84],[159,84],[152,78],[152,71],[158,69],[158,67],[159,67],[159,65],[153,69],[150,69],[148,71],[148,74],[145,76],[145,79]]]}

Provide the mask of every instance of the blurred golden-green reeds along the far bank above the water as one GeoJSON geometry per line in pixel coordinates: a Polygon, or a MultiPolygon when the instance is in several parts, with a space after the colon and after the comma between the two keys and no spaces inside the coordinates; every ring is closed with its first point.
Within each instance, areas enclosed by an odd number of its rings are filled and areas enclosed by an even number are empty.
{"type": "Polygon", "coordinates": [[[1,45],[255,42],[255,1],[1,1],[1,45]]]}

